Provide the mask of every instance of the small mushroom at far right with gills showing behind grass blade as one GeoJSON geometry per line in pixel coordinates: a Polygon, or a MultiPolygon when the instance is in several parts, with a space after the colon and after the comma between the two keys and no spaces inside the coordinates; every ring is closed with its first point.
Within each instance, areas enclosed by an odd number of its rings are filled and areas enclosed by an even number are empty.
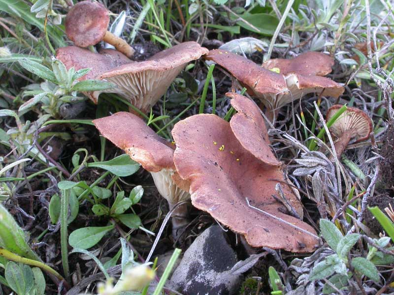
{"type": "MultiPolygon", "coordinates": [[[[330,107],[326,120],[334,116],[341,107],[342,105],[330,107]]],[[[334,148],[339,158],[352,139],[358,143],[369,138],[372,121],[363,111],[347,107],[347,110],[329,127],[329,131],[338,139],[334,143],[334,148]]]]}

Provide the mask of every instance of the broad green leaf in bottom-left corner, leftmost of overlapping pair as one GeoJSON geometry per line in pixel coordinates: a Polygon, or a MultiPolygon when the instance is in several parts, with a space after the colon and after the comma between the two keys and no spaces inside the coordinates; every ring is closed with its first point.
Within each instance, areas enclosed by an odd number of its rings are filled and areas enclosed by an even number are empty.
{"type": "Polygon", "coordinates": [[[24,264],[9,261],[5,267],[5,279],[12,290],[18,295],[27,295],[34,286],[32,269],[24,264]]]}

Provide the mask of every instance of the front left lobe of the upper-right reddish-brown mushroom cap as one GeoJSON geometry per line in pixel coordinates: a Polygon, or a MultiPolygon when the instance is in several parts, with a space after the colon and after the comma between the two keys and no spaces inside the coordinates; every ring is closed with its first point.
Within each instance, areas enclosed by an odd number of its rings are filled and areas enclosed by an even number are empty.
{"type": "Polygon", "coordinates": [[[252,60],[220,49],[210,50],[205,59],[227,69],[250,94],[256,93],[259,96],[259,93],[276,95],[287,92],[282,75],[266,70],[252,60]]]}

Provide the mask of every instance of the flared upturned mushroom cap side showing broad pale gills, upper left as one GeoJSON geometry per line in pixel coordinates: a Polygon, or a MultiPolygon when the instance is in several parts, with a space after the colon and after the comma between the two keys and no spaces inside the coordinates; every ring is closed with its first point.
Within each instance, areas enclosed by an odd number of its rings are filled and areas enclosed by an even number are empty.
{"type": "MultiPolygon", "coordinates": [[[[166,49],[150,59],[130,62],[102,73],[98,79],[116,84],[115,92],[132,105],[147,112],[162,97],[186,64],[208,53],[197,42],[184,42],[166,49]]],[[[98,98],[100,92],[95,92],[98,98]]]]}

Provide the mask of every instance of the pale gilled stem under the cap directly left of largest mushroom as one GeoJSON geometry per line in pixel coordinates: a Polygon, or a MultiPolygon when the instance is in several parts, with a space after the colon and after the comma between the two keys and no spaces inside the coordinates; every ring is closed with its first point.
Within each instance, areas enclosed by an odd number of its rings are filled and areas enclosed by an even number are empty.
{"type": "MultiPolygon", "coordinates": [[[[171,169],[163,169],[159,172],[151,172],[153,181],[162,195],[162,197],[167,200],[169,209],[171,210],[178,202],[186,201],[190,199],[189,192],[186,192],[179,188],[172,180],[172,174],[174,173],[171,169]]],[[[179,231],[189,224],[188,219],[188,207],[187,204],[178,206],[172,214],[172,236],[177,239],[181,234],[179,231]]]]}

